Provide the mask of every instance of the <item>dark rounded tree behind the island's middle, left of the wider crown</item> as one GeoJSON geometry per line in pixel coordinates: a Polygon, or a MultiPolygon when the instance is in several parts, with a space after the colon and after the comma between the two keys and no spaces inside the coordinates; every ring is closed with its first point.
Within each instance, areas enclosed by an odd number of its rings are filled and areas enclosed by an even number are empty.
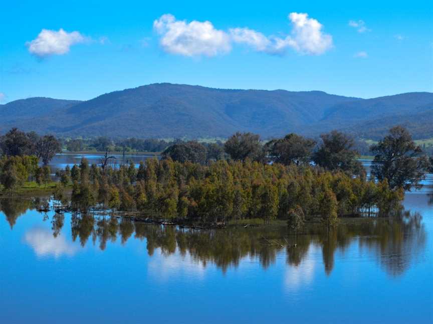
{"type": "Polygon", "coordinates": [[[262,160],[264,158],[260,135],[251,132],[237,132],[224,144],[226,153],[234,160],[262,160]]]}

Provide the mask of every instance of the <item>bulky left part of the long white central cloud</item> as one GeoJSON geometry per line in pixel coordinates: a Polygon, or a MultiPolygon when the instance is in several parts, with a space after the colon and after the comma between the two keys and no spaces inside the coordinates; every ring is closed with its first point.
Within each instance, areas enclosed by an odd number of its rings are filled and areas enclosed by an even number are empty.
{"type": "Polygon", "coordinates": [[[229,35],[215,29],[210,21],[186,22],[172,14],[163,14],[153,21],[153,28],[161,35],[164,51],[185,56],[214,56],[231,50],[229,35]]]}

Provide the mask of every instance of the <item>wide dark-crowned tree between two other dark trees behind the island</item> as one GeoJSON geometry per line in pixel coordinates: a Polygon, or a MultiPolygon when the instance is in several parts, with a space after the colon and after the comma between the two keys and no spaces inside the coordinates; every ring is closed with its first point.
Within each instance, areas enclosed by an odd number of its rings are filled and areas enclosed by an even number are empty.
{"type": "Polygon", "coordinates": [[[306,163],[310,160],[311,152],[316,145],[313,139],[290,133],[284,138],[269,141],[266,146],[275,162],[289,165],[306,163]]]}

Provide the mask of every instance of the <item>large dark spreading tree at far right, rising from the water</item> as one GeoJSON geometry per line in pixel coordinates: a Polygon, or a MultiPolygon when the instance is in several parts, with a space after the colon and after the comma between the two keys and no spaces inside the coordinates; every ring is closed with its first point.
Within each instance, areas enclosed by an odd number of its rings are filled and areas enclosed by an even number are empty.
{"type": "Polygon", "coordinates": [[[410,190],[422,186],[420,181],[425,177],[429,162],[404,127],[391,128],[371,150],[375,155],[371,173],[379,181],[386,179],[391,189],[410,190]]]}

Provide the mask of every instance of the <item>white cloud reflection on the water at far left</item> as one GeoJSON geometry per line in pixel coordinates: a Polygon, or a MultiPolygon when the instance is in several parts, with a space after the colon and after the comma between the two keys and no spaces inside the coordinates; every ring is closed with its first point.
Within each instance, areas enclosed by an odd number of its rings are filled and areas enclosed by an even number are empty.
{"type": "Polygon", "coordinates": [[[37,256],[74,255],[78,248],[66,241],[65,236],[54,237],[53,234],[44,228],[32,228],[24,235],[25,241],[32,246],[37,256]]]}

